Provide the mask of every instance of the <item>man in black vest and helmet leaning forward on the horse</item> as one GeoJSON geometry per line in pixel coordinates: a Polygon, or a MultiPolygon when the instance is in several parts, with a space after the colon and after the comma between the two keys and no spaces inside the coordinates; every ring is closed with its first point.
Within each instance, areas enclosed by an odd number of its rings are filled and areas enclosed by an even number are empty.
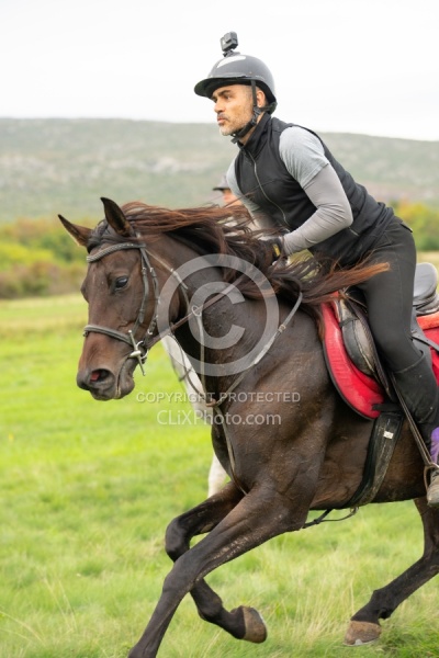
{"type": "MultiPolygon", "coordinates": [[[[194,89],[214,102],[221,134],[230,135],[239,148],[228,184],[257,226],[283,234],[273,239],[274,258],[308,249],[341,266],[364,259],[390,264],[359,287],[380,355],[437,463],[439,389],[410,332],[412,230],[352,179],[316,133],[272,117],[273,77],[260,59],[238,53],[237,45],[235,33],[223,37],[224,57],[194,89]]],[[[427,500],[439,507],[439,468],[431,472],[427,500]]]]}

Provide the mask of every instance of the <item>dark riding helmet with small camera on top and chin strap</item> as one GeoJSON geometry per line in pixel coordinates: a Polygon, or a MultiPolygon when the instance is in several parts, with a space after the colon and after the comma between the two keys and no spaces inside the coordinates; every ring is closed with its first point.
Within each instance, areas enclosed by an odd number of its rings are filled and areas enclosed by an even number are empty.
{"type": "Polygon", "coordinates": [[[250,84],[254,95],[254,117],[247,126],[235,134],[235,138],[244,137],[248,131],[256,125],[261,112],[272,114],[277,106],[274,79],[270,69],[263,61],[250,55],[243,55],[235,50],[238,45],[236,32],[228,32],[221,39],[223,59],[214,64],[207,78],[195,84],[194,91],[198,95],[212,98],[219,87],[226,84],[250,84]],[[256,101],[256,87],[259,87],[267,97],[268,105],[258,107],[256,101]]]}

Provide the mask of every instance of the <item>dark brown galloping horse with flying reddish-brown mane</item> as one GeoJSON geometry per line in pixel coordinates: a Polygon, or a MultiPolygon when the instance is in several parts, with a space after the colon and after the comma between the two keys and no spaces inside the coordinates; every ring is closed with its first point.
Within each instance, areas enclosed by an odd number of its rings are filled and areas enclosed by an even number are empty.
{"type": "MultiPolygon", "coordinates": [[[[258,612],[227,611],[204,577],[275,535],[301,530],[309,510],[349,508],[372,421],[342,401],[328,376],[318,308],[376,268],[328,271],[314,260],[272,265],[271,249],[240,226],[240,208],[230,226],[229,209],[140,203],[121,209],[103,202],[105,219],[93,230],[61,218],[89,251],[78,385],[100,400],[127,395],[136,365],[171,325],[216,404],[222,422],[214,424],[213,444],[232,480],[170,523],[166,551],[175,565],[130,656],[157,655],[187,593],[203,620],[261,643],[258,612]],[[206,536],[190,548],[200,534],[206,536]]],[[[423,462],[404,426],[373,502],[407,499],[421,515],[424,555],[352,616],[348,644],[378,638],[379,620],[439,571],[439,512],[426,504],[423,462]]]]}

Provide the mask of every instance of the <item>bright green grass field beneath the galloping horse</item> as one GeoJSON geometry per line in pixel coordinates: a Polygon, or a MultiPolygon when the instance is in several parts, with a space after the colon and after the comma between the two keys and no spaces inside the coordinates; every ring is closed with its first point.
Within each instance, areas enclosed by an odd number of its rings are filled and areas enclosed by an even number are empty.
{"type": "MultiPolygon", "coordinates": [[[[0,658],[125,657],[170,568],[166,526],[206,490],[206,429],[159,424],[177,401],[136,400],[181,390],[160,345],[123,400],[76,387],[86,314],[79,295],[0,304],[0,658]]],[[[439,656],[436,580],[374,646],[342,646],[350,615],[421,546],[410,502],[278,537],[207,578],[227,608],[261,612],[267,642],[234,640],[187,598],[159,656],[439,656]]]]}

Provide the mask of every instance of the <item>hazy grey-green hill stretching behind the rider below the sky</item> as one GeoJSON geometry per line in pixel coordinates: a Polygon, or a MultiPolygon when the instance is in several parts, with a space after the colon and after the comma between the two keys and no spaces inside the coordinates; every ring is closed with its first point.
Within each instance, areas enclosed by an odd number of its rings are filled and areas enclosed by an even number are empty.
{"type": "MultiPolygon", "coordinates": [[[[380,201],[439,207],[439,143],[322,134],[380,201]]],[[[169,207],[217,201],[236,154],[212,124],[0,118],[0,222],[100,218],[100,196],[169,207]]]]}

